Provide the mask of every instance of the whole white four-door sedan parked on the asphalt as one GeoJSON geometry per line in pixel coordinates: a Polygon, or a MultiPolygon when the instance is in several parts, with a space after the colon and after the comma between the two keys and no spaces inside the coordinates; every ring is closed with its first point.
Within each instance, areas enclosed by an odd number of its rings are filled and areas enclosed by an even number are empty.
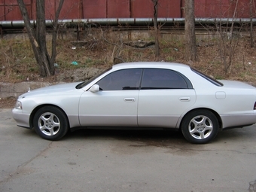
{"type": "Polygon", "coordinates": [[[216,81],[184,64],[117,64],[87,82],[32,90],[12,110],[17,126],[35,128],[58,140],[68,130],[181,130],[192,143],[206,143],[219,130],[256,123],[256,88],[239,81],[216,81]]]}

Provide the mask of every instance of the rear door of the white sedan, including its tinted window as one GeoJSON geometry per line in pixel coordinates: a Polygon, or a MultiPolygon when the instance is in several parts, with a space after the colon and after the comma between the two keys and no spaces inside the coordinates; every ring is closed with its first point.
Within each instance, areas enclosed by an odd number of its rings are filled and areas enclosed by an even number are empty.
{"type": "Polygon", "coordinates": [[[194,104],[190,81],[169,69],[145,69],[139,91],[139,126],[175,127],[181,114],[194,104]]]}

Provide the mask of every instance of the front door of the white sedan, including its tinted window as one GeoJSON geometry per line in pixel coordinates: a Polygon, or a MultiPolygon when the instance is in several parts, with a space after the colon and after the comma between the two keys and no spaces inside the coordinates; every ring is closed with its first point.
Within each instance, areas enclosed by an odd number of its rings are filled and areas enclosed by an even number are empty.
{"type": "Polygon", "coordinates": [[[123,69],[106,75],[81,96],[81,126],[138,126],[137,108],[142,69],[123,69]]]}

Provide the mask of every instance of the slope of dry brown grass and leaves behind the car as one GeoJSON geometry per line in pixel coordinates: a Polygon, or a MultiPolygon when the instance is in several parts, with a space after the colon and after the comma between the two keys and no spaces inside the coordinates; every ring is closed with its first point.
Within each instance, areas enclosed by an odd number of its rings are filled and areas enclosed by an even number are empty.
{"type": "MultiPolygon", "coordinates": [[[[224,66],[219,54],[218,38],[207,38],[198,42],[198,62],[184,61],[184,41],[178,38],[160,38],[160,58],[155,58],[154,47],[138,49],[123,44],[126,39],[126,32],[109,32],[102,40],[100,31],[86,35],[84,41],[87,44],[78,47],[71,41],[74,38],[64,38],[57,41],[58,55],[56,63],[57,72],[65,73],[67,70],[74,70],[84,67],[107,68],[113,64],[113,57],[119,55],[126,62],[134,61],[156,61],[182,62],[212,75],[214,78],[227,78],[239,81],[256,81],[256,55],[255,48],[249,46],[249,39],[240,37],[236,47],[235,56],[231,62],[228,72],[224,72],[224,66]],[[114,45],[115,44],[115,45],[114,45]],[[75,49],[72,49],[75,47],[75,49]],[[77,62],[78,65],[72,65],[77,62]]],[[[150,35],[133,37],[132,41],[154,40],[150,35]]],[[[228,44],[227,44],[228,47],[228,44]]],[[[50,48],[50,45],[49,45],[50,48]]],[[[227,55],[228,56],[228,55],[227,55]]],[[[21,39],[1,39],[0,40],[0,81],[19,82],[42,81],[38,75],[38,66],[35,62],[32,48],[26,38],[21,39]]],[[[46,78],[43,81],[51,81],[46,78]]]]}

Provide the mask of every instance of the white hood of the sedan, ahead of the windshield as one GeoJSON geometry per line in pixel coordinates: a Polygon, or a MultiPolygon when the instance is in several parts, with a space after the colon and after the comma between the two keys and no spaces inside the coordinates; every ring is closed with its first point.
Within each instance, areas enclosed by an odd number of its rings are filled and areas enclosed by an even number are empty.
{"type": "Polygon", "coordinates": [[[75,87],[79,84],[79,82],[76,83],[69,83],[69,84],[56,84],[51,85],[48,87],[42,87],[36,90],[30,90],[27,93],[24,93],[20,97],[24,96],[35,96],[35,95],[44,95],[44,94],[57,94],[57,93],[68,93],[73,90],[77,90],[75,87]]]}

